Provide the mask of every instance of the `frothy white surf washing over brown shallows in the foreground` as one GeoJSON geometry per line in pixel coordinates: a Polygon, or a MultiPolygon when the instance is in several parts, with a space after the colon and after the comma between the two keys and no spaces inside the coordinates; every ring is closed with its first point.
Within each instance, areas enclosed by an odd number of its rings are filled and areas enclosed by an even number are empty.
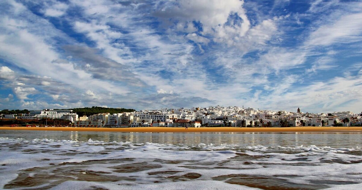
{"type": "Polygon", "coordinates": [[[333,181],[351,188],[357,187],[352,183],[362,183],[359,147],[4,137],[0,144],[0,188],[22,182],[23,186],[9,188],[36,189],[59,180],[64,182],[53,189],[251,189],[230,183],[274,184],[274,189],[278,184],[300,189],[322,184],[318,186],[322,189],[340,188],[333,181]],[[42,177],[45,173],[49,175],[42,177]],[[37,180],[24,180],[29,177],[37,180]],[[256,177],[258,181],[253,181],[256,177]]]}

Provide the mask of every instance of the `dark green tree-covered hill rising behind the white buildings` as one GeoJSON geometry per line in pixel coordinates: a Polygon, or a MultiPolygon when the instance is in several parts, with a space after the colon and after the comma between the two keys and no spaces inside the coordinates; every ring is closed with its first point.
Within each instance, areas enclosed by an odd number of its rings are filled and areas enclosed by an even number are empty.
{"type": "MultiPolygon", "coordinates": [[[[54,109],[54,110],[61,110],[61,109],[54,109]]],[[[62,109],[64,110],[64,109],[62,109]]],[[[109,107],[81,107],[81,108],[72,108],[72,109],[66,109],[66,110],[73,110],[74,113],[77,113],[79,117],[82,117],[83,115],[94,115],[99,113],[110,113],[110,114],[117,114],[117,113],[123,113],[123,112],[133,112],[136,111],[134,109],[126,109],[126,108],[109,108],[109,107]]]]}

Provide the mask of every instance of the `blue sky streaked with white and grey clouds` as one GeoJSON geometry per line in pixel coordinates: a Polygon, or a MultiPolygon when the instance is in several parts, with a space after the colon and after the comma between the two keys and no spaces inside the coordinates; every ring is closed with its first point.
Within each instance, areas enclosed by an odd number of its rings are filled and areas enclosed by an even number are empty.
{"type": "Polygon", "coordinates": [[[0,109],[362,111],[360,0],[1,0],[0,109]]]}

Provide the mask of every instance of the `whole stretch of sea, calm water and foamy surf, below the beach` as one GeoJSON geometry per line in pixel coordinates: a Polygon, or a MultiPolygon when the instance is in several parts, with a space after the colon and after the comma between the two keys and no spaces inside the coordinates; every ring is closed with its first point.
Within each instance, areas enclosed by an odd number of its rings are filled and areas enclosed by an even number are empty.
{"type": "Polygon", "coordinates": [[[362,189],[362,132],[0,130],[0,188],[362,189]]]}

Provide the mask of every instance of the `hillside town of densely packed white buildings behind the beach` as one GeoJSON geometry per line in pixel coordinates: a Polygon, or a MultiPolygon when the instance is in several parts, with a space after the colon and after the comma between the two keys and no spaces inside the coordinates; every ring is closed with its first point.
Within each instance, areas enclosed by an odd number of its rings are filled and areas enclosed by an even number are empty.
{"type": "Polygon", "coordinates": [[[19,119],[67,119],[76,127],[279,127],[284,126],[332,126],[342,123],[342,126],[362,124],[362,117],[350,111],[331,114],[296,113],[287,111],[256,110],[237,106],[194,107],[192,109],[159,109],[141,110],[131,113],[100,113],[78,117],[72,110],[38,110],[24,115],[4,115],[4,118],[19,119]],[[348,120],[346,119],[348,118],[348,120]]]}

